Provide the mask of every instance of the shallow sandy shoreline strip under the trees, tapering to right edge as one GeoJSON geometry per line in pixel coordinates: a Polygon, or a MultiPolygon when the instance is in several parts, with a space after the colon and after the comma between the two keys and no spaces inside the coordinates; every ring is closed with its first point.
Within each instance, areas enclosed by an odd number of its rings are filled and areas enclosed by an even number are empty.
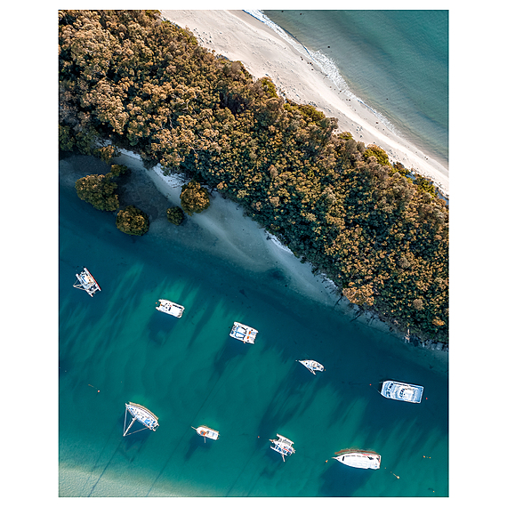
{"type": "MultiPolygon", "coordinates": [[[[182,173],[165,175],[159,164],[147,170],[142,165],[141,156],[126,149],[119,151],[122,155],[115,159],[116,163],[147,174],[160,195],[167,199],[168,205],[180,205],[181,186],[188,178],[182,173]]],[[[205,249],[226,262],[237,263],[251,272],[278,270],[283,273],[287,286],[300,296],[334,307],[350,320],[357,320],[361,325],[390,334],[406,346],[424,350],[424,353],[431,355],[438,363],[447,362],[448,343],[424,340],[417,335],[411,335],[410,341],[407,342],[402,331],[383,321],[374,311],[359,311],[356,305],[341,296],[333,280],[326,278],[326,274],[320,271],[314,274],[310,262],[302,263],[278,238],[262,229],[252,218],[245,216],[240,205],[214,192],[210,201],[211,205],[205,212],[185,217],[185,221],[189,222],[192,228],[187,227],[188,230],[185,230],[182,229],[184,225],[176,226],[182,243],[189,247],[195,246],[194,228],[204,230],[210,241],[204,245],[205,242],[200,238],[201,245],[197,245],[198,248],[205,249]]],[[[153,226],[156,234],[162,234],[165,221],[165,216],[158,216],[157,221],[150,224],[150,228],[153,226]]]]}

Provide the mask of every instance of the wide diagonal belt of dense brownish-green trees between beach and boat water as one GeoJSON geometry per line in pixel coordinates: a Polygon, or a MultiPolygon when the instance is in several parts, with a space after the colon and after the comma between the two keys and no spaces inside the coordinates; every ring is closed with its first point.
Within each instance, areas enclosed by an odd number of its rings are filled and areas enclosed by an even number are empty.
{"type": "Polygon", "coordinates": [[[60,149],[93,154],[107,140],[147,167],[187,173],[243,205],[350,302],[447,340],[448,208],[429,181],[157,11],[59,16],[60,149]]]}

